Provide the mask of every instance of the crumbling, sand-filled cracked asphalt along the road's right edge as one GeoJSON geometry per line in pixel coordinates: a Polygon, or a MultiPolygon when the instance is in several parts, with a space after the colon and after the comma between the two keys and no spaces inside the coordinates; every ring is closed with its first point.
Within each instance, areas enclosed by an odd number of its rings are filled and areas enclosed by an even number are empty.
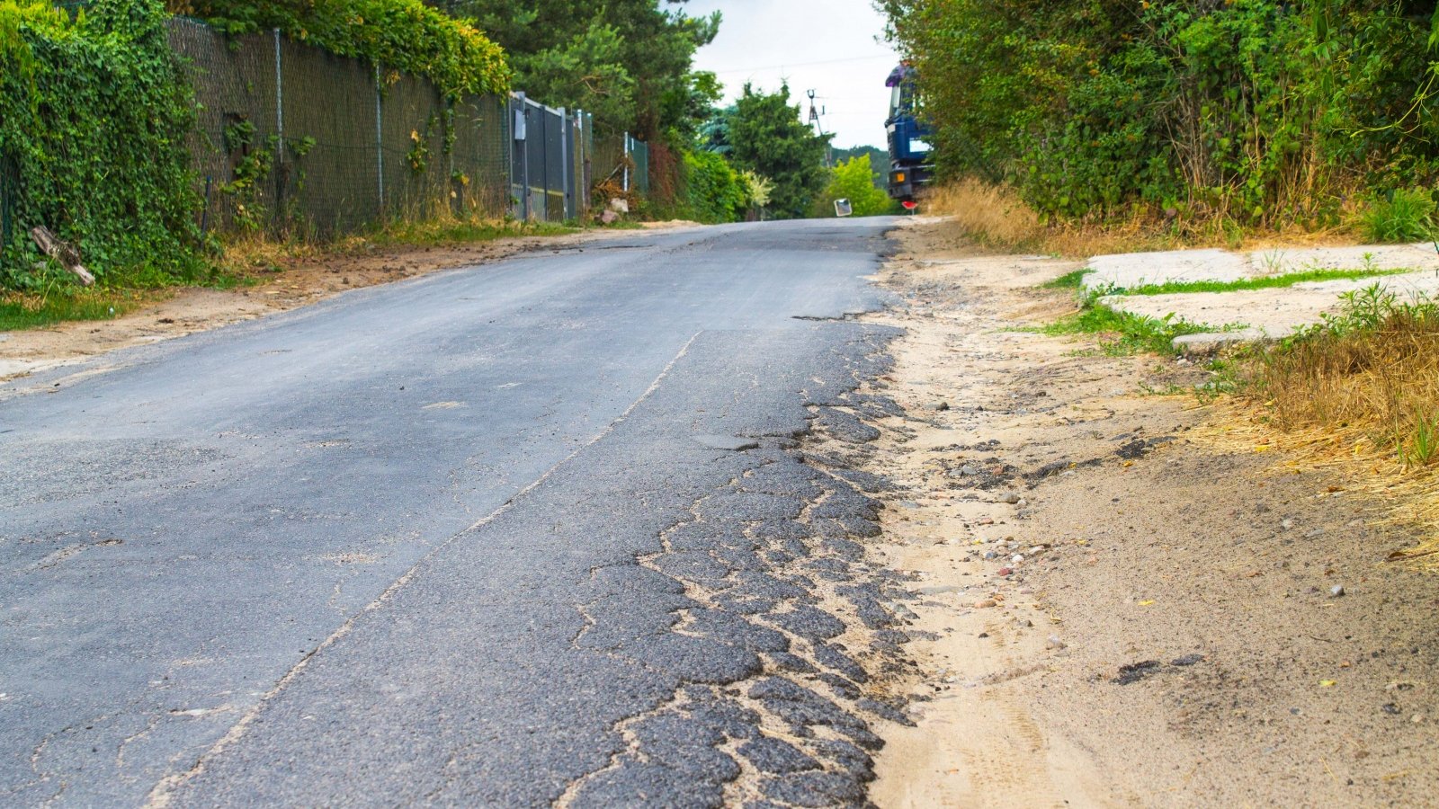
{"type": "MultiPolygon", "coordinates": [[[[806,403],[809,426],[763,436],[743,452],[743,474],[694,500],[659,531],[662,550],[636,559],[676,595],[675,641],[718,641],[737,665],[614,723],[609,760],[557,806],[869,805],[884,744],[872,721],[911,724],[892,684],[915,666],[899,618],[914,596],[865,544],[879,535],[871,495],[888,488],[862,469],[879,436],[866,420],[902,410],[858,390],[889,369],[898,334],[859,328],[840,348],[850,379],[806,403]]],[[[603,619],[616,606],[581,607],[574,645],[617,648],[603,619]]]]}

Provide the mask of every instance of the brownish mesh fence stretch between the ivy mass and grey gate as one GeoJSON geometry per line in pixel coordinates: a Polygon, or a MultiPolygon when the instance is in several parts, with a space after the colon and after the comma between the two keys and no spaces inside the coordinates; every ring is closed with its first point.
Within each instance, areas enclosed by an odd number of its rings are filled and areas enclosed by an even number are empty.
{"type": "Polygon", "coordinates": [[[386,217],[507,212],[505,104],[279,32],[174,19],[197,102],[191,164],[204,229],[328,236],[386,217]]]}

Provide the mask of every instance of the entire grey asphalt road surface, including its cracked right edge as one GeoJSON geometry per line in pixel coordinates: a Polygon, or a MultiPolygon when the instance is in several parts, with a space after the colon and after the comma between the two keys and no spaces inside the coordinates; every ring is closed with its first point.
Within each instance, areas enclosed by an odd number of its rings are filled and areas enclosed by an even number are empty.
{"type": "Polygon", "coordinates": [[[862,802],[876,484],[794,436],[889,407],[842,317],[888,225],[541,250],[0,384],[0,805],[862,802]]]}

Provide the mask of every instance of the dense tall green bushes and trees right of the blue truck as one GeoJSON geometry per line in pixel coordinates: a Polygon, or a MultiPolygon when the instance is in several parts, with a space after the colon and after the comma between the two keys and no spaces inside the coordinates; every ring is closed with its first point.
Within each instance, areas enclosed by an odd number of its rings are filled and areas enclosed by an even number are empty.
{"type": "Polygon", "coordinates": [[[1423,238],[1439,176],[1433,3],[882,0],[943,176],[1040,225],[1177,238],[1334,227],[1423,238]],[[1396,191],[1396,189],[1399,191],[1396,191]],[[1393,225],[1393,226],[1390,226],[1393,225]]]}

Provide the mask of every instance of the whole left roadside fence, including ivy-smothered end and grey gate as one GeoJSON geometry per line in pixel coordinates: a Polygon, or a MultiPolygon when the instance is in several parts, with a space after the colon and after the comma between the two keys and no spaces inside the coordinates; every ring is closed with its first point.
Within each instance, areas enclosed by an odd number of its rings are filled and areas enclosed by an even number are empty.
{"type": "Polygon", "coordinates": [[[586,217],[607,171],[589,115],[475,92],[154,0],[0,0],[0,289],[55,274],[42,225],[102,282],[147,285],[190,276],[216,233],[586,217]]]}

